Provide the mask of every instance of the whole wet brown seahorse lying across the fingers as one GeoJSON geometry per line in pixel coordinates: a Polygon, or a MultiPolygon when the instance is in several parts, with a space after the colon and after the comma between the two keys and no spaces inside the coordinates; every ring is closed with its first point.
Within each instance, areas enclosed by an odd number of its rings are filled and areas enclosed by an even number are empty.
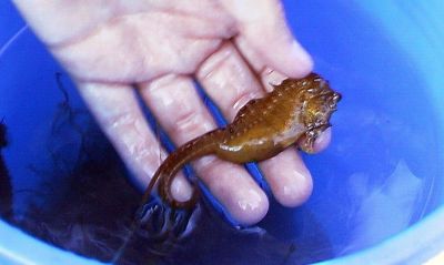
{"type": "Polygon", "coordinates": [[[223,129],[205,133],[170,154],[153,176],[141,208],[149,202],[155,182],[159,194],[174,208],[192,208],[198,192],[186,202],[174,200],[171,184],[178,171],[203,155],[215,154],[233,163],[268,160],[296,143],[306,153],[314,152],[315,140],[331,126],[341,94],[319,74],[286,79],[262,99],[248,102],[234,121],[223,129]]]}

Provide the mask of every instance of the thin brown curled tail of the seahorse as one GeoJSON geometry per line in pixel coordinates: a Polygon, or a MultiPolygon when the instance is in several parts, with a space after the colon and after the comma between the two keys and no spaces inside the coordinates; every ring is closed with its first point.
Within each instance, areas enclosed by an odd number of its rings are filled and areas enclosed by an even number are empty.
{"type": "Polygon", "coordinates": [[[218,139],[222,134],[222,130],[214,130],[208,132],[190,142],[183,144],[171,153],[161,166],[155,172],[154,176],[151,179],[148,185],[141,205],[148,203],[150,194],[154,187],[154,184],[159,182],[158,191],[159,195],[170,206],[174,208],[190,208],[193,207],[199,197],[199,192],[194,188],[193,194],[190,200],[185,202],[176,201],[171,194],[171,184],[174,180],[175,174],[185,165],[186,163],[199,159],[203,155],[212,154],[215,152],[219,145],[218,139]]]}

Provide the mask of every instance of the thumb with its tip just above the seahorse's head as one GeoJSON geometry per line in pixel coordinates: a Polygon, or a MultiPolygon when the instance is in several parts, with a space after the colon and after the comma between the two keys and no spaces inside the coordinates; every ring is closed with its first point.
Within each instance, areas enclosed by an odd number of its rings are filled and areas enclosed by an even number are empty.
{"type": "Polygon", "coordinates": [[[221,3],[238,21],[236,45],[258,72],[270,67],[287,77],[302,78],[312,71],[313,61],[293,38],[281,1],[223,0],[221,3]]]}

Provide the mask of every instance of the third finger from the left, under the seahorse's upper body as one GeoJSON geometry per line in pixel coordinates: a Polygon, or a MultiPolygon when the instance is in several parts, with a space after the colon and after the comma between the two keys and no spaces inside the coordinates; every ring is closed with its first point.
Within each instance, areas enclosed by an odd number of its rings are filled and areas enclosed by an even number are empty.
{"type": "MultiPolygon", "coordinates": [[[[230,121],[249,100],[265,93],[232,44],[225,44],[202,64],[198,80],[230,121]]],[[[310,195],[311,175],[294,149],[261,162],[260,167],[283,205],[297,205],[310,195]]]]}

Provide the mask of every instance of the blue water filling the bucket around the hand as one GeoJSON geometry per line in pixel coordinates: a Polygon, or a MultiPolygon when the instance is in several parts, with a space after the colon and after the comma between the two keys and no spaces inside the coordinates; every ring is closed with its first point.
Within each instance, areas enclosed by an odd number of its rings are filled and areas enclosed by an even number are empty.
{"type": "MultiPolygon", "coordinates": [[[[295,210],[273,202],[259,224],[261,230],[239,232],[214,216],[208,217],[175,262],[322,261],[379,243],[436,206],[433,197],[441,191],[435,183],[443,174],[437,166],[441,157],[433,126],[435,113],[428,104],[424,77],[350,2],[285,4],[295,34],[314,55],[315,70],[343,94],[332,121],[331,146],[322,154],[304,157],[314,177],[313,196],[295,210]]],[[[63,197],[71,181],[63,176],[74,171],[84,141],[72,123],[64,123],[70,112],[60,105],[65,100],[54,78],[60,71],[29,30],[0,57],[0,119],[4,118],[10,136],[10,145],[2,153],[12,176],[18,216],[39,197],[48,203],[36,191],[48,194],[51,190],[51,196],[63,197]],[[62,163],[54,163],[49,150],[56,150],[62,163]]],[[[74,89],[67,89],[69,110],[78,114],[74,123],[89,124],[74,89]]],[[[103,142],[100,133],[89,139],[93,137],[103,142]]]]}

